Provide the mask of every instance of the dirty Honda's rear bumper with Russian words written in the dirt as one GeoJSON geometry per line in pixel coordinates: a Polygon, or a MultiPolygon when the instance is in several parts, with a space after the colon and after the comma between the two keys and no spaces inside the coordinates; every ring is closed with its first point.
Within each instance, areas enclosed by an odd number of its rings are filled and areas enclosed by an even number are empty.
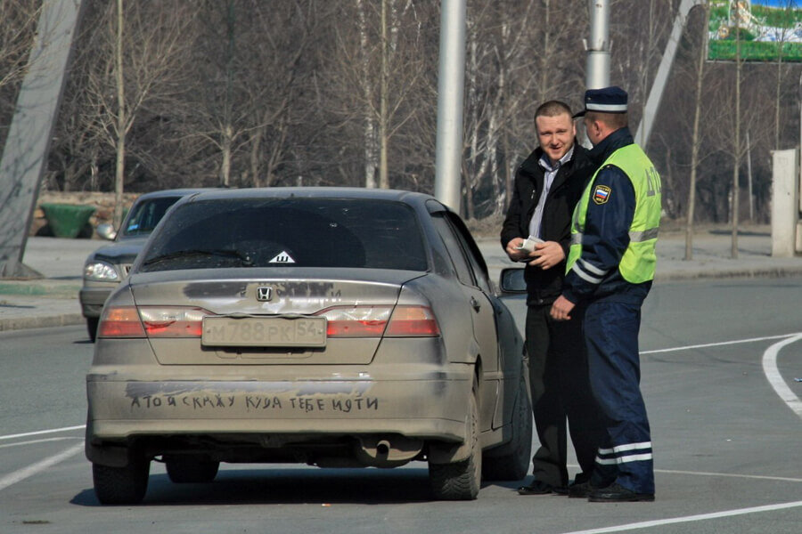
{"type": "Polygon", "coordinates": [[[408,380],[148,381],[90,375],[87,438],[397,433],[460,442],[472,368],[451,367],[437,377],[408,380]]]}

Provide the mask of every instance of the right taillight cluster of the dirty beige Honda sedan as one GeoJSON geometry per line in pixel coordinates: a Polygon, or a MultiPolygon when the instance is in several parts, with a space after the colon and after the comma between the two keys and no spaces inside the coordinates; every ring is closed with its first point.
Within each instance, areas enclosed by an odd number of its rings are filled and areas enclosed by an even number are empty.
{"type": "Polygon", "coordinates": [[[335,306],[315,315],[328,320],[328,337],[439,336],[434,313],[426,306],[335,306]]]}

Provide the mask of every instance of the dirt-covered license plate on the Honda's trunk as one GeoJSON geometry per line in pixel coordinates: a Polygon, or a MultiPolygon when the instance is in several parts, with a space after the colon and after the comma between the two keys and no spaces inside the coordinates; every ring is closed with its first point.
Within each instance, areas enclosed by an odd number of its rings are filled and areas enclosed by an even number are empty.
{"type": "Polygon", "coordinates": [[[205,317],[201,344],[241,347],[324,347],[326,318],[205,317]]]}

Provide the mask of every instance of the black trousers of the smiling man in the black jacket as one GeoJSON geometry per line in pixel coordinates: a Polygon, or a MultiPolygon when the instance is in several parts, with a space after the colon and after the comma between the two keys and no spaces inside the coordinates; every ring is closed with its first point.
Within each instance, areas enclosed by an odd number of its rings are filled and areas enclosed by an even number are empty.
{"type": "Polygon", "coordinates": [[[569,321],[552,320],[551,304],[528,306],[527,352],[532,409],[540,447],[532,458],[535,479],[552,486],[568,484],[566,417],[582,482],[593,472],[596,451],[604,437],[599,409],[588,379],[583,311],[569,321]]]}

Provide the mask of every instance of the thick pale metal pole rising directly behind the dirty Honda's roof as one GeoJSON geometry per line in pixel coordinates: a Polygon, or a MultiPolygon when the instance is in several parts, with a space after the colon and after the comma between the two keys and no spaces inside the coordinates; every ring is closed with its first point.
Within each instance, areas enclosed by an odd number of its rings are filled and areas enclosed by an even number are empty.
{"type": "Polygon", "coordinates": [[[465,0],[440,5],[438,139],[435,197],[460,213],[462,206],[462,93],[465,83],[465,0]]]}

